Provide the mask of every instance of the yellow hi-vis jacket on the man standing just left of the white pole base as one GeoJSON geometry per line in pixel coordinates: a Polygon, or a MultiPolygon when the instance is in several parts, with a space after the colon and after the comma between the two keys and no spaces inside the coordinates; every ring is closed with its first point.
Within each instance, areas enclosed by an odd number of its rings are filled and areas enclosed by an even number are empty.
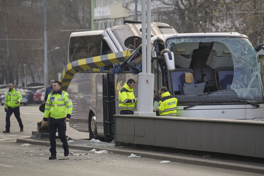
{"type": "Polygon", "coordinates": [[[136,106],[136,99],[133,89],[129,88],[127,84],[118,92],[119,109],[120,110],[134,110],[136,106]]]}

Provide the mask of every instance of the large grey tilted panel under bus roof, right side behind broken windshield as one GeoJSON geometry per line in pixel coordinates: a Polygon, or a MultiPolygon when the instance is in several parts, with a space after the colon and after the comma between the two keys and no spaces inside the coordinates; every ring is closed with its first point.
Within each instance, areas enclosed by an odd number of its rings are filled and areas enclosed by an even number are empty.
{"type": "Polygon", "coordinates": [[[213,69],[219,67],[234,67],[231,52],[228,47],[224,43],[214,42],[206,65],[209,65],[213,69]]]}

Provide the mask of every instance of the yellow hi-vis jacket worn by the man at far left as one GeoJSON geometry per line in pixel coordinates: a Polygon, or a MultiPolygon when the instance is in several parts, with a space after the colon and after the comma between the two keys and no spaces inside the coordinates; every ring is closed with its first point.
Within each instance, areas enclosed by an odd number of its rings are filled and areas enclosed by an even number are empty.
{"type": "Polygon", "coordinates": [[[22,95],[15,88],[13,88],[11,91],[7,91],[5,93],[5,108],[7,108],[7,106],[11,108],[18,107],[22,99],[22,95]],[[18,102],[18,104],[16,104],[16,102],[18,102]]]}

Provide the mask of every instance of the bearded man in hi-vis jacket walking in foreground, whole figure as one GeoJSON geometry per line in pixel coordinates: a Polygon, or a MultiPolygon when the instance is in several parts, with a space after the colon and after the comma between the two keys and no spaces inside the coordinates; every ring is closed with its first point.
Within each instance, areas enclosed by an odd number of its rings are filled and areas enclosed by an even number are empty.
{"type": "Polygon", "coordinates": [[[61,90],[61,82],[54,81],[53,92],[51,92],[46,101],[44,112],[44,124],[47,125],[48,116],[50,113],[50,153],[49,160],[56,159],[56,131],[61,140],[64,149],[64,156],[69,155],[68,142],[66,139],[66,122],[70,121],[72,112],[71,98],[67,92],[61,90]]]}

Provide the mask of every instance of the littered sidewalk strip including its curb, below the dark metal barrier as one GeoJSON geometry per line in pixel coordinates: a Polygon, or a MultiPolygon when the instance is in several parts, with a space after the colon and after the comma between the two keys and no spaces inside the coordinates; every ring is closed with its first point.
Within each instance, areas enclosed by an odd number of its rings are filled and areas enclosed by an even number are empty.
{"type": "MultiPolygon", "coordinates": [[[[158,159],[158,160],[169,160],[180,163],[188,163],[188,164],[264,174],[263,164],[247,163],[241,161],[230,161],[230,160],[228,162],[223,162],[221,161],[221,159],[213,159],[213,158],[203,159],[203,157],[199,157],[199,156],[190,157],[184,154],[175,154],[175,153],[168,154],[165,152],[155,152],[155,151],[148,152],[148,151],[142,151],[137,149],[125,148],[125,147],[115,147],[115,144],[106,143],[106,142],[94,143],[89,140],[78,140],[78,139],[73,139],[73,141],[74,142],[68,143],[69,149],[77,149],[77,150],[85,150],[85,151],[90,151],[92,149],[96,149],[96,151],[107,150],[108,152],[113,152],[114,154],[122,154],[127,156],[129,156],[130,154],[135,154],[137,156],[158,159]],[[179,156],[179,155],[183,155],[183,156],[179,156]],[[259,165],[259,166],[254,166],[254,165],[259,165]]],[[[16,142],[50,146],[49,139],[20,138],[17,139],[16,142]]],[[[57,143],[57,147],[62,147],[62,143],[60,140],[56,140],[56,143],[57,143]]]]}

